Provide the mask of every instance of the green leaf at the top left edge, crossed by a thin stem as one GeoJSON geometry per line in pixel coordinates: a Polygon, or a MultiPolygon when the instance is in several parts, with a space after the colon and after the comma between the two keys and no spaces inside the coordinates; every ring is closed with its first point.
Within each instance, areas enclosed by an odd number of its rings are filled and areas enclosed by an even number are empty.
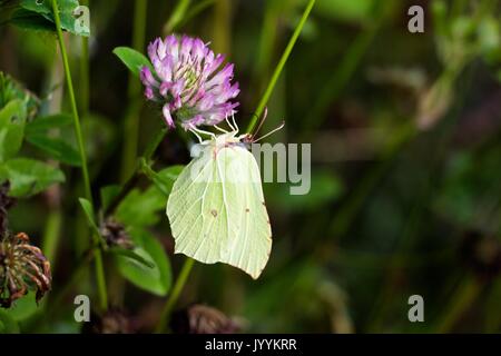
{"type": "MultiPolygon", "coordinates": [[[[73,34],[88,37],[88,9],[80,7],[77,0],[57,0],[61,29],[73,34]]],[[[27,29],[56,30],[50,0],[21,0],[20,8],[13,11],[11,21],[27,29]]]]}

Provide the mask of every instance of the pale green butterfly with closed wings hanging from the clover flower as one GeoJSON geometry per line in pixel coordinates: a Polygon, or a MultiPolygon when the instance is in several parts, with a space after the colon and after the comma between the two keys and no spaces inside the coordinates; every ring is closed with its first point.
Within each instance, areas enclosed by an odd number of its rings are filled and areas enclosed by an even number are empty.
{"type": "Polygon", "coordinates": [[[167,216],[175,253],[205,264],[225,263],[258,278],[272,250],[259,168],[247,150],[248,135],[218,127],[222,135],[193,129],[200,144],[174,184],[167,216]],[[212,135],[202,141],[198,134],[212,135]]]}

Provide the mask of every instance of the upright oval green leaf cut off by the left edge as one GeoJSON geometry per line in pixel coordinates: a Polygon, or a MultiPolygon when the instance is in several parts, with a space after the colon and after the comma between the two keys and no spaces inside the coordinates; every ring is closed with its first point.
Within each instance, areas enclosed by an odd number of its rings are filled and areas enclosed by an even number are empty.
{"type": "Polygon", "coordinates": [[[24,136],[26,107],[19,99],[9,101],[0,111],[0,162],[12,158],[24,136]]]}

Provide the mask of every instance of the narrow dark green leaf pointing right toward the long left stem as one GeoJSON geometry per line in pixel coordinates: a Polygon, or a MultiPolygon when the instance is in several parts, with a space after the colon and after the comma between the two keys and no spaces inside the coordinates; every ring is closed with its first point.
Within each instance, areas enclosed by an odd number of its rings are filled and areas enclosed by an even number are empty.
{"type": "Polygon", "coordinates": [[[27,141],[42,149],[53,159],[71,165],[81,166],[80,154],[70,144],[60,137],[49,137],[45,135],[27,135],[27,141]]]}

